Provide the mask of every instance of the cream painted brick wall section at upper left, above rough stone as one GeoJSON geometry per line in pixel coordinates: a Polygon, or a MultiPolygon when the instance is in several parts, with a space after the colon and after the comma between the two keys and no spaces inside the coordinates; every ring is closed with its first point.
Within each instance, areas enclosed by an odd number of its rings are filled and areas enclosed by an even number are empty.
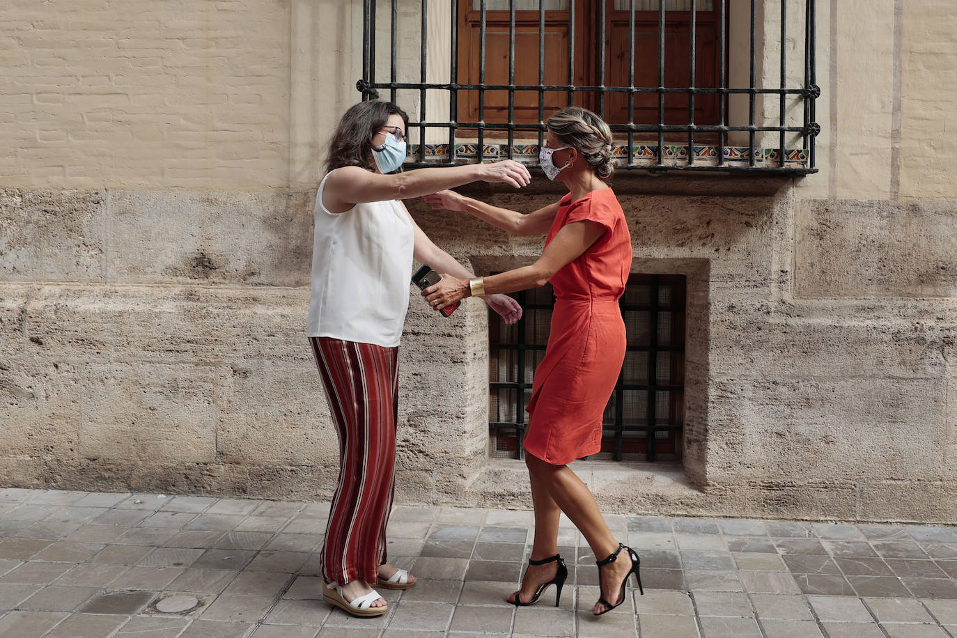
{"type": "Polygon", "coordinates": [[[0,143],[11,151],[0,180],[314,184],[327,132],[359,100],[355,4],[11,0],[0,25],[0,143]]]}

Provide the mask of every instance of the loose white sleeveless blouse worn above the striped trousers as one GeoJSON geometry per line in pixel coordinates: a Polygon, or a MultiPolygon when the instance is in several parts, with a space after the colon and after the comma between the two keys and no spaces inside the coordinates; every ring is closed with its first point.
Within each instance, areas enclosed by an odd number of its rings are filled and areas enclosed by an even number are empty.
{"type": "Polygon", "coordinates": [[[323,206],[316,193],[308,337],[395,347],[409,310],[412,220],[397,200],[323,206]]]}

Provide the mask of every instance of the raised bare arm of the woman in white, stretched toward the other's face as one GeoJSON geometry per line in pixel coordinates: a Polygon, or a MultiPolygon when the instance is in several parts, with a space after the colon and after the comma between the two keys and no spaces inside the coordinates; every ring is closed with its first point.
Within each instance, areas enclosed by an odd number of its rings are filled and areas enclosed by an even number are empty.
{"type": "Polygon", "coordinates": [[[531,175],[524,165],[512,160],[448,168],[417,168],[394,175],[374,173],[359,166],[343,166],[329,173],[323,191],[323,206],[332,212],[343,212],[361,202],[410,199],[478,181],[503,182],[519,188],[531,181],[531,175]]]}

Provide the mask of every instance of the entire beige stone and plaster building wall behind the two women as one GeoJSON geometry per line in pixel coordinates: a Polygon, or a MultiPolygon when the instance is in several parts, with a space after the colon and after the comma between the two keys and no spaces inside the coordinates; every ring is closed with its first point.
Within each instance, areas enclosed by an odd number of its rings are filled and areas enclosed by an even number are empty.
{"type": "MultiPolygon", "coordinates": [[[[329,495],[303,327],[353,4],[0,10],[0,485],[329,495]]],[[[819,173],[616,178],[633,272],[687,277],[687,419],[682,467],[579,464],[603,507],[957,522],[957,11],[879,5],[818,3],[819,173]]],[[[410,208],[478,273],[541,252],[410,208]]],[[[400,365],[399,500],[527,507],[523,465],[486,451],[482,304],[412,294],[400,365]]]]}

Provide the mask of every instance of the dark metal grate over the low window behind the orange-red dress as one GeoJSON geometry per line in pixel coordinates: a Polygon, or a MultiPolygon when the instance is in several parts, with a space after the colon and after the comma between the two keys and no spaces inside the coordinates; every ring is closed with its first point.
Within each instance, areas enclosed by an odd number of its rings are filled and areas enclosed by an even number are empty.
{"type": "MultiPolygon", "coordinates": [[[[532,372],[545,356],[554,297],[550,285],[516,293],[517,324],[489,321],[491,455],[523,458],[532,372]]],[[[684,422],[685,279],[631,275],[619,302],[628,334],[625,363],[605,408],[602,450],[591,458],[679,459],[684,422]]]]}

